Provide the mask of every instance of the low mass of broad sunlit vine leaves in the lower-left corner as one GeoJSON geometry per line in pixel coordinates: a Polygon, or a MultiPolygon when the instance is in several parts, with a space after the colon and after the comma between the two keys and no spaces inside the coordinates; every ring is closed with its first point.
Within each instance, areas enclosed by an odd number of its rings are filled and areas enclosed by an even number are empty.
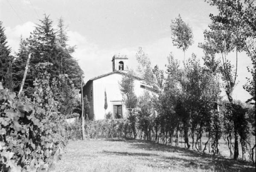
{"type": "MultiPolygon", "coordinates": [[[[39,101],[38,97],[38,101],[39,101]]],[[[21,171],[49,169],[66,142],[58,113],[49,113],[20,100],[9,90],[0,90],[0,169],[21,171]],[[39,116],[46,118],[39,120],[39,116]]]]}

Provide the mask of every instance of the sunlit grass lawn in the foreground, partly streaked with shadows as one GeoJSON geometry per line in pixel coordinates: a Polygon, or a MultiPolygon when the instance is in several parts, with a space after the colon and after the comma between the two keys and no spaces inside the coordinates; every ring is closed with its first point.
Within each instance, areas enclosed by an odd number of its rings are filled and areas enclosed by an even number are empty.
{"type": "Polygon", "coordinates": [[[149,141],[70,141],[52,172],[254,172],[252,163],[149,141]]]}

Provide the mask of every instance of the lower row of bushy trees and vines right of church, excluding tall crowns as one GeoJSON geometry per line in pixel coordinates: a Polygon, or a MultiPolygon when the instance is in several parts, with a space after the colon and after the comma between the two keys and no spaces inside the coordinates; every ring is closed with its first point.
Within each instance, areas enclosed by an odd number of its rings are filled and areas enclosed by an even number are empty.
{"type": "MultiPolygon", "coordinates": [[[[171,145],[175,142],[178,146],[181,136],[186,148],[208,150],[216,155],[220,154],[219,140],[222,138],[230,149],[230,157],[238,158],[238,154],[237,157],[234,154],[236,149],[238,153],[238,144],[241,144],[242,158],[245,159],[248,153],[253,160],[254,106],[223,99],[220,96],[221,73],[200,65],[194,54],[186,61],[185,68],[180,68],[172,54],[168,61],[166,71],[157,66],[152,70],[157,93],[147,90],[137,97],[134,72],[122,79],[121,91],[129,112],[125,122],[133,137],[171,145]],[[203,135],[207,136],[204,144],[203,135]]],[[[126,129],[123,132],[129,133],[126,129]]]]}

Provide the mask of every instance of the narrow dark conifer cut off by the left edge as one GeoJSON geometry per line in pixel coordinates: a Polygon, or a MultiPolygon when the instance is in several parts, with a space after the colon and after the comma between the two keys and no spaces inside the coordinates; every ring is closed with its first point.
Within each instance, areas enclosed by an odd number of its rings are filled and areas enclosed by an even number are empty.
{"type": "Polygon", "coordinates": [[[3,23],[0,21],[0,82],[9,90],[12,86],[12,56],[11,48],[7,45],[7,38],[4,34],[3,23]]]}

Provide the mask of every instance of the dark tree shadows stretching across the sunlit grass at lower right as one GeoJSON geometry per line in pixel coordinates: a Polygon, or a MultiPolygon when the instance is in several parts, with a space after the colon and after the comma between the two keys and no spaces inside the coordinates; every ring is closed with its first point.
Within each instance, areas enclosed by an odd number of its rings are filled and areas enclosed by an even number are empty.
{"type": "MultiPolygon", "coordinates": [[[[181,147],[174,147],[169,145],[157,144],[151,141],[134,140],[134,139],[108,139],[107,141],[123,141],[129,143],[131,148],[143,149],[148,151],[160,151],[160,152],[171,152],[171,156],[163,156],[154,153],[134,153],[134,152],[108,152],[103,151],[102,153],[113,154],[113,155],[125,155],[125,156],[137,156],[143,157],[157,157],[160,161],[167,162],[172,167],[172,164],[177,162],[184,167],[199,168],[207,171],[223,171],[223,172],[254,172],[255,167],[253,163],[247,161],[234,161],[233,159],[224,158],[222,156],[203,154],[195,150],[189,150],[181,147]],[[173,155],[173,156],[172,156],[173,155]]],[[[157,162],[151,164],[151,166],[159,166],[157,162]]]]}

